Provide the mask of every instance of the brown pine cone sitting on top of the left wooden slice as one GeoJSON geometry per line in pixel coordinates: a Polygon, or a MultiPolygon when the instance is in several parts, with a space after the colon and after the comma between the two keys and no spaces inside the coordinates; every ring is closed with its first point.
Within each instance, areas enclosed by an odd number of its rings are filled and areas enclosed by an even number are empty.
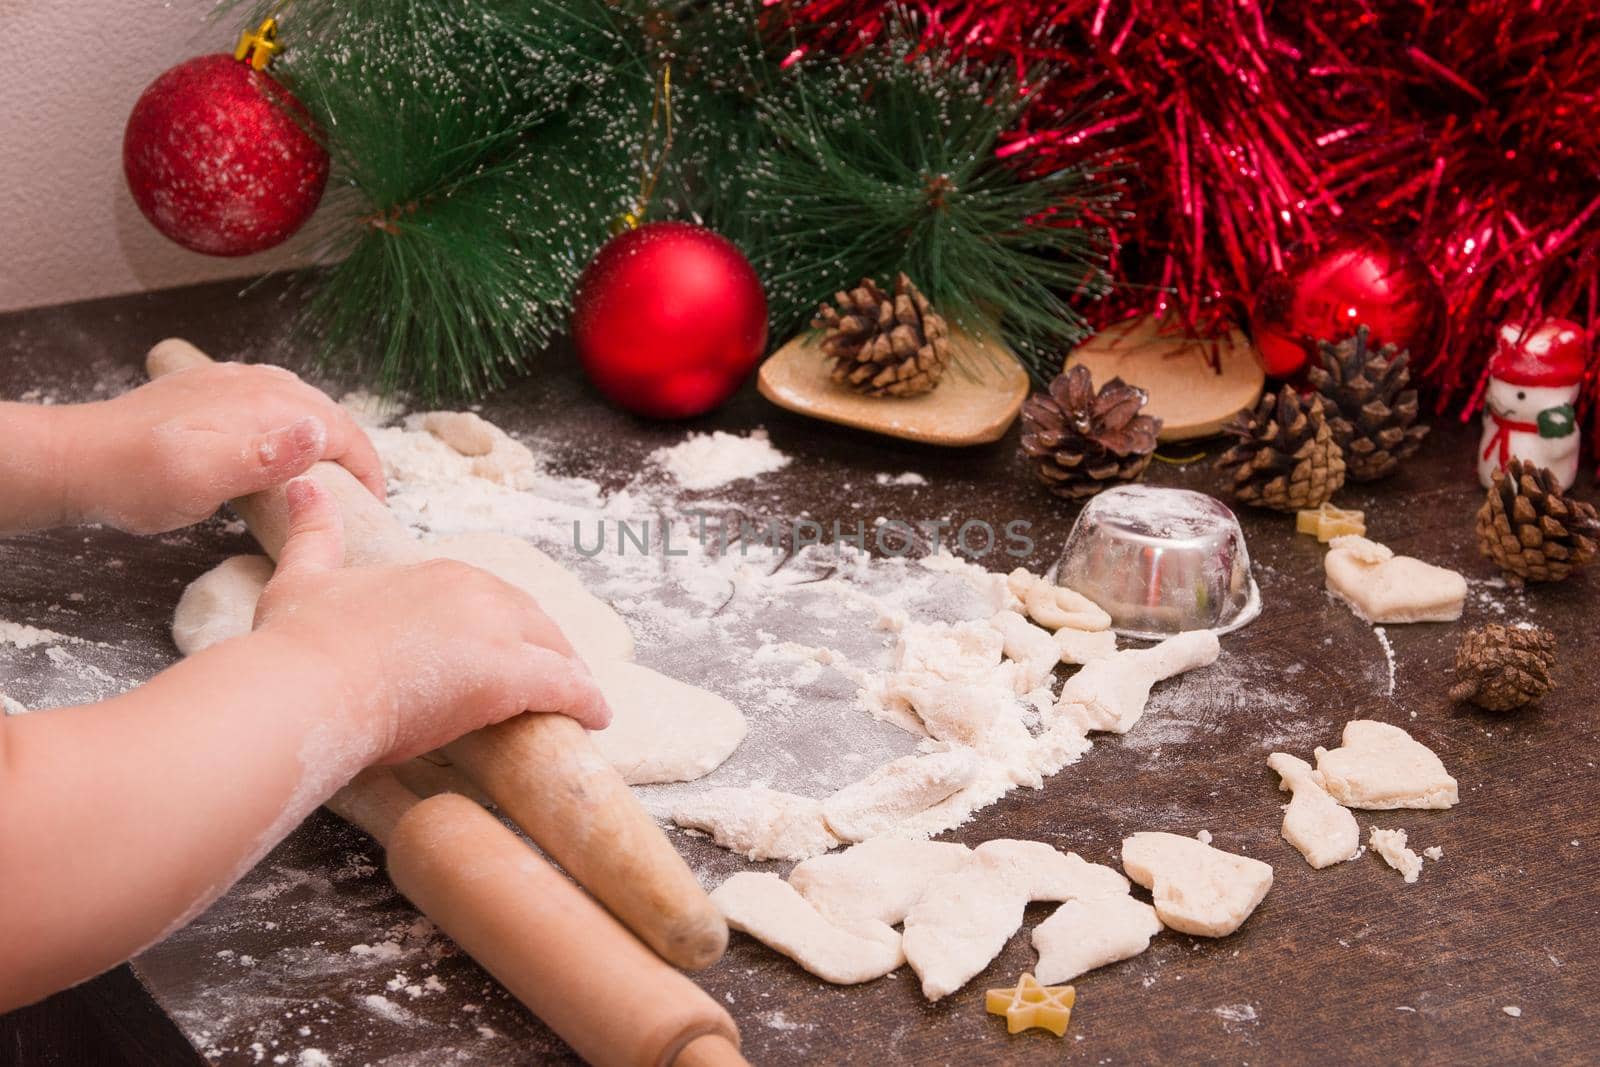
{"type": "Polygon", "coordinates": [[[822,354],[829,376],[869,397],[915,397],[939,384],[950,362],[944,318],[904,274],[890,296],[872,278],[822,304],[816,330],[826,330],[822,354]]]}

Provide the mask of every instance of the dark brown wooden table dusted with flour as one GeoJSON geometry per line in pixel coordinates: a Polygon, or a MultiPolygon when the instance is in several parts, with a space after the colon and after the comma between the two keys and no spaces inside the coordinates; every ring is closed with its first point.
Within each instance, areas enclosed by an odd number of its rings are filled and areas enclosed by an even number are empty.
{"type": "MultiPolygon", "coordinates": [[[[285,328],[291,304],[277,283],[243,294],[221,285],[0,317],[0,397],[42,389],[67,402],[117,392],[139,379],[142,354],[168,334],[187,336],[219,358],[298,365],[285,328]]],[[[627,482],[650,450],[683,432],[606,408],[562,350],[483,413],[512,432],[538,427],[546,442],[571,442],[570,454],[557,450],[550,461],[606,486],[627,482]]],[[[768,427],[795,462],[760,482],[763,506],[770,510],[776,499],[787,514],[805,510],[824,525],[842,514],[837,486],[848,480],[869,486],[856,493],[882,498],[874,507],[909,510],[909,518],[1030,520],[1038,531],[1054,531],[1032,560],[1045,566],[1075,514],[1022,472],[1014,430],[986,448],[917,448],[789,416],[754,389],[694,426],[768,427]],[[931,485],[915,494],[877,488],[872,472],[880,470],[917,470],[931,485]]],[[[1389,627],[1392,694],[1374,633],[1322,590],[1318,545],[1296,536],[1283,517],[1248,514],[1266,609],[1224,640],[1234,673],[1222,675],[1224,683],[1202,675],[1178,683],[1133,734],[1101,739],[1043,790],[1016,792],[950,835],[968,843],[1034,837],[1115,862],[1128,832],[1211,829],[1219,845],[1266,859],[1277,872],[1272,893],[1238,934],[1208,941],[1165,933],[1147,953],[1080,979],[1064,1041],[1040,1032],[1008,1038],[1003,1024],[982,1013],[984,987],[1014,981],[1032,965],[1026,933],[936,1006],[923,1003],[906,968],[866,987],[838,989],[734,936],[728,957],[699,979],[739,1019],[749,1057],[757,1064],[1594,1062],[1600,1056],[1594,993],[1600,675],[1589,656],[1597,649],[1600,579],[1589,573],[1526,595],[1493,582],[1472,541],[1482,496],[1472,475],[1474,440],[1474,429],[1442,422],[1398,477],[1341,498],[1366,510],[1374,537],[1459,568],[1474,582],[1462,624],[1389,627]],[[1462,629],[1502,619],[1557,632],[1560,688],[1542,707],[1509,717],[1453,707],[1445,689],[1462,629]],[[1250,670],[1240,672],[1242,664],[1250,670]],[[1227,685],[1229,677],[1246,681],[1227,685]],[[1398,825],[1418,848],[1445,848],[1443,861],[1429,864],[1418,885],[1403,885],[1373,856],[1315,872],[1278,838],[1285,795],[1264,757],[1285,737],[1301,755],[1310,744],[1333,745],[1341,725],[1355,717],[1406,726],[1461,781],[1453,811],[1360,814],[1363,833],[1366,825],[1398,825]],[[1522,1016],[1502,1013],[1507,1005],[1522,1016]]],[[[1155,464],[1152,480],[1213,486],[1205,464],[1155,464]]],[[[1594,499],[1587,474],[1581,493],[1594,499]]],[[[728,496],[738,498],[738,488],[728,496]]],[[[248,550],[248,539],[222,520],[154,539],[72,530],[0,542],[0,619],[94,641],[67,646],[72,657],[61,662],[38,648],[0,645],[0,689],[27,705],[51,705],[147,678],[174,657],[166,625],[184,584],[240,550],[248,550]],[[83,597],[69,598],[70,592],[83,597]]],[[[702,840],[682,833],[675,840],[712,881],[747,865],[702,840]]],[[[134,960],[136,981],[114,973],[0,1019],[0,1062],[96,1062],[70,1051],[86,1027],[99,1025],[83,1019],[101,1021],[128,1062],[198,1054],[227,1064],[318,1062],[306,1051],[312,1048],[334,1064],[565,1062],[570,1054],[554,1035],[414,923],[379,862],[360,833],[325,813],[312,816],[205,917],[134,960]],[[426,963],[406,963],[408,973],[394,984],[389,950],[357,953],[365,969],[352,979],[349,950],[384,941],[422,949],[426,963]],[[363,990],[400,1011],[374,1013],[363,990]]],[[[1027,926],[1046,913],[1030,909],[1027,926]]],[[[618,979],[622,1005],[627,995],[650,995],[626,990],[626,976],[618,979]]],[[[115,1062],[110,1049],[101,1053],[115,1062]]]]}

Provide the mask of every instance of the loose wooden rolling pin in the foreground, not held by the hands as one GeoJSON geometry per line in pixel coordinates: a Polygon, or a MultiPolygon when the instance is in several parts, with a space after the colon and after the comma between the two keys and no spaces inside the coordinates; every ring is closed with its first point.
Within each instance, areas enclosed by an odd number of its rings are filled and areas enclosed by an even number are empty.
{"type": "Polygon", "coordinates": [[[715,1000],[466,797],[422,800],[368,768],[328,806],[378,838],[395,888],[587,1062],[746,1062],[715,1000]]]}

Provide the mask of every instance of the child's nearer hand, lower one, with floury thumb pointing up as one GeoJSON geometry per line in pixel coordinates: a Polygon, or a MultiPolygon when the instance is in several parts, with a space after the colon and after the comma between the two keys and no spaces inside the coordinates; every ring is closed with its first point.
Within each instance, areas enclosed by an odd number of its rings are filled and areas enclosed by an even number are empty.
{"type": "Polygon", "coordinates": [[[256,632],[328,662],[382,761],[419,755],[525,710],[590,729],[611,710],[589,669],[531,597],[451,560],[339,568],[344,531],[328,493],[288,485],[290,533],[256,608],[256,632]]]}

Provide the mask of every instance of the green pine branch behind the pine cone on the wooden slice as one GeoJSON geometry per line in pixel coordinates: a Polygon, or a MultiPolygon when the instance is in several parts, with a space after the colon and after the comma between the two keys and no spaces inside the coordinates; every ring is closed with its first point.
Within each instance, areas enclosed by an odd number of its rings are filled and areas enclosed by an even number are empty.
{"type": "Polygon", "coordinates": [[[875,51],[784,69],[792,42],[752,29],[760,6],[682,8],[674,46],[677,62],[717,72],[685,104],[714,125],[686,150],[715,179],[691,203],[755,262],[774,338],[840,288],[904,270],[1048,384],[1090,333],[1069,298],[1109,288],[1094,219],[1115,210],[1115,176],[1094,163],[1026,174],[997,158],[1026,106],[1003,70],[928,51],[906,26],[875,51]]]}

